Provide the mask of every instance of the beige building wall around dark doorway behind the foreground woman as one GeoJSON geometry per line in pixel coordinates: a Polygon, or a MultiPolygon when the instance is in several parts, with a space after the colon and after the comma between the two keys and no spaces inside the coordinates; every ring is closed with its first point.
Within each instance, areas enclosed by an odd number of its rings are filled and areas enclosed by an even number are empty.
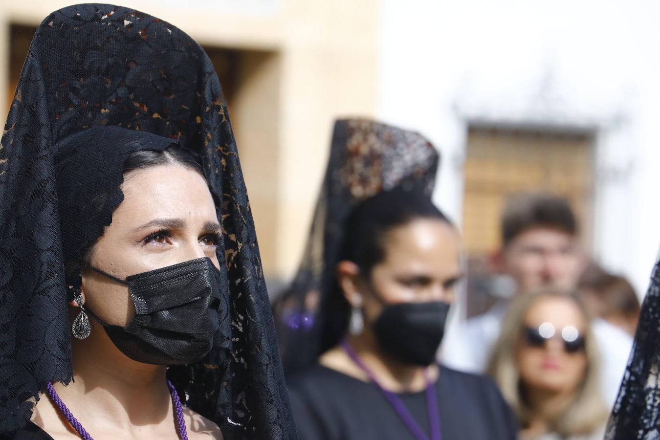
{"type": "MultiPolygon", "coordinates": [[[[2,2],[0,59],[7,59],[10,22],[36,25],[75,3],[2,2]]],[[[253,13],[203,9],[195,1],[182,2],[185,8],[122,3],[172,22],[204,46],[246,50],[230,117],[265,273],[288,278],[306,239],[333,119],[375,113],[380,0],[264,0],[269,7],[253,13]]],[[[7,71],[0,68],[0,84],[7,71]]],[[[3,106],[6,89],[0,86],[3,106]]],[[[7,109],[0,111],[4,118],[7,109]]]]}

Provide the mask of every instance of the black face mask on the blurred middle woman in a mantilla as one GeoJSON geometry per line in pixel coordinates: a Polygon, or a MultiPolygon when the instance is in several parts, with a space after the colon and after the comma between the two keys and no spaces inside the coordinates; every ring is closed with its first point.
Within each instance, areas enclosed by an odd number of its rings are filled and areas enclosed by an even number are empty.
{"type": "Polygon", "coordinates": [[[385,352],[414,365],[430,365],[445,332],[449,304],[442,301],[386,304],[374,330],[385,352]]]}

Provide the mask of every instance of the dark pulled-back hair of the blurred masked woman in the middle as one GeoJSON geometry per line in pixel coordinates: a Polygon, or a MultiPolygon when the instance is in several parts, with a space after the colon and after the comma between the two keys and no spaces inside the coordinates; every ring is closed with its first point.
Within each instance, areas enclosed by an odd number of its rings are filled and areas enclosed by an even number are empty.
{"type": "Polygon", "coordinates": [[[401,187],[382,191],[352,210],[345,222],[337,261],[327,267],[324,284],[330,288],[320,307],[323,334],[318,354],[337,345],[348,328],[350,305],[337,282],[337,263],[352,261],[363,276],[369,277],[372,268],[385,259],[387,234],[418,218],[433,218],[451,224],[422,191],[401,187]]]}

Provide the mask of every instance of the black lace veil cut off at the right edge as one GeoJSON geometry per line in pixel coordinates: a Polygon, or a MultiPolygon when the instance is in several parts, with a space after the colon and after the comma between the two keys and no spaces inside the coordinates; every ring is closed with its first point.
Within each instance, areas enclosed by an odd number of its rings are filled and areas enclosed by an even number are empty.
{"type": "Polygon", "coordinates": [[[632,352],[605,438],[660,439],[660,262],[651,274],[632,352]]]}

